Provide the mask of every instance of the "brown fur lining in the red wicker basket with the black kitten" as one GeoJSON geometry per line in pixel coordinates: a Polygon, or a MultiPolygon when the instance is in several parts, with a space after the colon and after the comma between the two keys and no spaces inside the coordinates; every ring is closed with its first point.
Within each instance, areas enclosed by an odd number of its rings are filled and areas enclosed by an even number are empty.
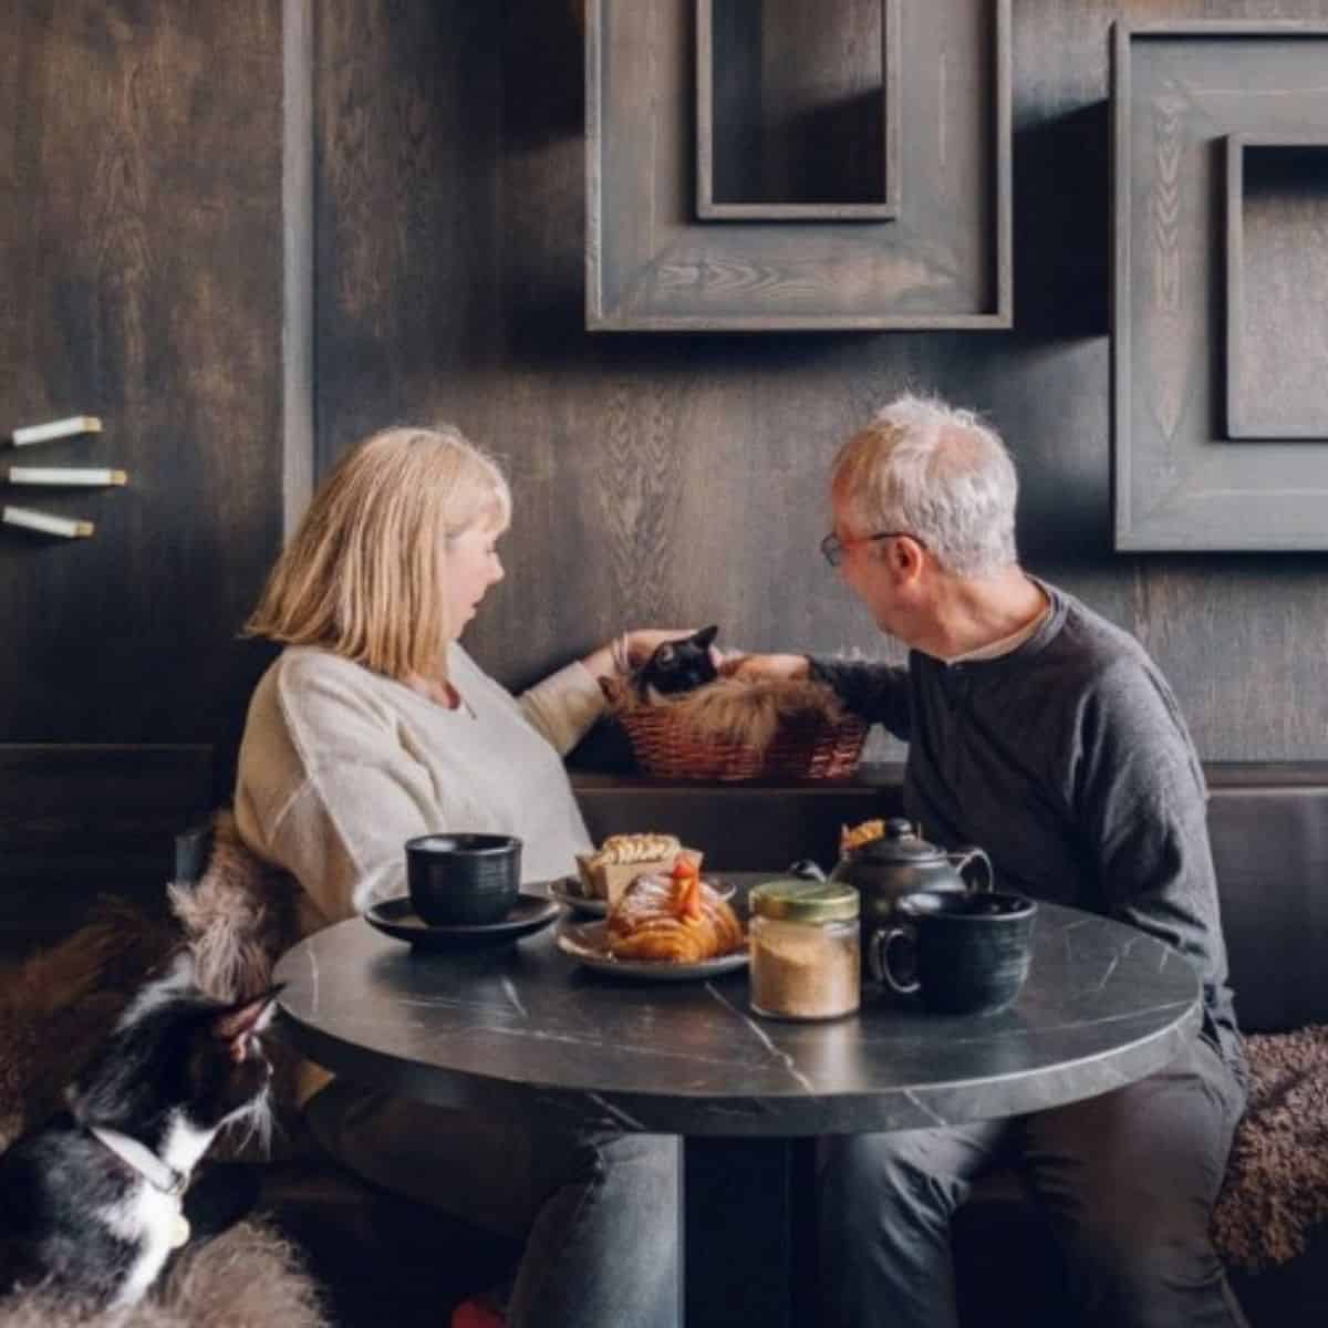
{"type": "Polygon", "coordinates": [[[717,677],[713,683],[648,701],[622,679],[602,679],[608,713],[624,720],[640,710],[667,713],[701,741],[737,742],[764,752],[790,721],[843,722],[839,697],[825,685],[806,680],[717,677]]]}

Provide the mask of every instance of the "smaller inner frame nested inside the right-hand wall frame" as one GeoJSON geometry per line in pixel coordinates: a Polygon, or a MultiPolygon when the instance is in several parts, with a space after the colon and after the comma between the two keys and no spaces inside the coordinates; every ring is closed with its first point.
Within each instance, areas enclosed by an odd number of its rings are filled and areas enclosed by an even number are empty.
{"type": "MultiPolygon", "coordinates": [[[[1328,133],[1230,134],[1226,166],[1227,437],[1328,441],[1328,246],[1323,242],[1328,236],[1328,133]],[[1282,251],[1282,271],[1270,290],[1260,290],[1258,282],[1247,279],[1246,268],[1267,270],[1271,264],[1255,262],[1250,252],[1255,246],[1247,243],[1246,163],[1251,157],[1288,154],[1312,162],[1301,171],[1307,183],[1317,186],[1312,203],[1323,218],[1315,218],[1311,230],[1321,230],[1321,235],[1297,236],[1292,218],[1283,211],[1282,234],[1266,236],[1267,244],[1282,251]],[[1276,331],[1274,317],[1296,335],[1260,336],[1264,329],[1276,331]],[[1313,335],[1316,327],[1319,336],[1313,335]],[[1280,369],[1263,363],[1270,357],[1282,361],[1280,369]]],[[[1305,208],[1296,211],[1304,214],[1305,208]]],[[[1275,224],[1276,214],[1271,220],[1275,224]]]]}

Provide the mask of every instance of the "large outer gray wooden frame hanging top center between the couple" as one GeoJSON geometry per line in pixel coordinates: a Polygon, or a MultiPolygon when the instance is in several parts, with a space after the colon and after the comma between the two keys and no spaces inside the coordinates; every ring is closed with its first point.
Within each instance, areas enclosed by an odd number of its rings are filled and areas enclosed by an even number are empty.
{"type": "Polygon", "coordinates": [[[1011,0],[900,8],[916,129],[899,215],[712,220],[696,215],[696,0],[587,0],[588,329],[1011,327],[1011,0]]]}

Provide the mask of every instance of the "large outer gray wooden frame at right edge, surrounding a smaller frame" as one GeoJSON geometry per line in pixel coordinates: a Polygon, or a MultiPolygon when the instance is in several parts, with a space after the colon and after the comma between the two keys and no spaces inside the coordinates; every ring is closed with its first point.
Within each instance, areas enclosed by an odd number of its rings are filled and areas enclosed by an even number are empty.
{"type": "Polygon", "coordinates": [[[1328,24],[1117,25],[1120,551],[1328,550],[1328,446],[1227,437],[1227,138],[1328,134],[1328,24]]]}

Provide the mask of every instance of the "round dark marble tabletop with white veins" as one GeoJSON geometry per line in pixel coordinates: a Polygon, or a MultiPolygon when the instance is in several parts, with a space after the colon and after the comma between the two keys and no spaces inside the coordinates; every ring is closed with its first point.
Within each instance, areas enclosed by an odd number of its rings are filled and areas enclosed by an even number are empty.
{"type": "Polygon", "coordinates": [[[563,955],[555,928],[454,955],[416,952],[361,919],[340,923],[278,965],[282,1027],[327,1068],[426,1101],[782,1137],[1090,1097],[1159,1069],[1199,1027],[1198,977],[1181,956],[1052,904],[1040,906],[1016,1004],[965,1017],[869,988],[850,1019],[766,1020],[748,1007],[745,971],[695,983],[604,977],[563,955]]]}

